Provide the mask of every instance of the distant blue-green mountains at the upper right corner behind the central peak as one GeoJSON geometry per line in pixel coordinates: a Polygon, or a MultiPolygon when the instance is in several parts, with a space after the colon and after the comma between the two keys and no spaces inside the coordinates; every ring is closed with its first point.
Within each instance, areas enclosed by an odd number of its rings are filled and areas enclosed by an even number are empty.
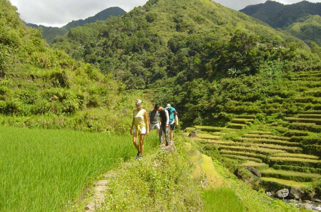
{"type": "Polygon", "coordinates": [[[281,28],[310,45],[321,45],[321,3],[302,1],[292,5],[266,1],[264,4],[250,5],[240,10],[251,17],[259,19],[271,27],[281,28]]]}

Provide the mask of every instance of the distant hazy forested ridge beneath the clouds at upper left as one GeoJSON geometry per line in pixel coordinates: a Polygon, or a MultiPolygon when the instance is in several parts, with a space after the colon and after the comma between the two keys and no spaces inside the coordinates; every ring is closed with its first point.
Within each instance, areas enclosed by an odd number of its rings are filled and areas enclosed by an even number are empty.
{"type": "Polygon", "coordinates": [[[28,27],[33,27],[33,28],[41,27],[44,39],[46,39],[47,42],[51,44],[57,36],[65,35],[71,28],[84,26],[85,24],[90,24],[90,23],[94,23],[97,21],[103,21],[103,20],[108,19],[111,16],[122,16],[125,13],[126,12],[124,10],[122,10],[121,8],[112,7],[112,8],[105,9],[105,10],[97,13],[95,16],[89,17],[85,20],[80,19],[77,21],[72,21],[61,28],[46,27],[46,26],[42,26],[42,25],[38,26],[35,24],[30,24],[30,23],[28,23],[26,25],[28,27]]]}

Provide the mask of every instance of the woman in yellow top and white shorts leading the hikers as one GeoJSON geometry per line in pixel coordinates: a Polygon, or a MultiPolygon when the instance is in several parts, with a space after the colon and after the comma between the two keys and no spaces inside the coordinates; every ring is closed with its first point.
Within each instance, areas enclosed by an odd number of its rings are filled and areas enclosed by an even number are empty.
{"type": "Polygon", "coordinates": [[[148,116],[145,109],[142,109],[142,101],[140,99],[136,100],[136,109],[133,112],[130,134],[132,136],[132,142],[137,149],[136,158],[141,158],[144,153],[144,137],[149,135],[149,123],[148,116]],[[147,128],[147,129],[146,129],[147,128]],[[137,137],[139,135],[139,146],[137,143],[137,137]],[[140,151],[139,151],[140,149],[140,151]]]}

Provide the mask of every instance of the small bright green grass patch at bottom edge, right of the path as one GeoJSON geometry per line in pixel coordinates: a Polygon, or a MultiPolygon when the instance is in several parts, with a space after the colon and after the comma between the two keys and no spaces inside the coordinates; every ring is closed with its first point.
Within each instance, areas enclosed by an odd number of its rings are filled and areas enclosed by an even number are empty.
{"type": "Polygon", "coordinates": [[[204,212],[243,212],[243,204],[231,188],[203,191],[204,212]]]}

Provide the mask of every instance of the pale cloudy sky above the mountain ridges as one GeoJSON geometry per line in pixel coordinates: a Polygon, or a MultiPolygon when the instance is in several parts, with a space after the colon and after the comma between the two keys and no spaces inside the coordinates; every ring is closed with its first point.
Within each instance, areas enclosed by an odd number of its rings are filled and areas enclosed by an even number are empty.
{"type": "MultiPolygon", "coordinates": [[[[18,8],[20,18],[27,23],[62,27],[73,20],[86,19],[110,7],[119,7],[129,12],[134,7],[144,5],[147,0],[9,0],[18,8]]],[[[248,5],[264,3],[266,0],[216,0],[228,8],[241,10],[248,5]]],[[[274,0],[276,1],[276,0],[274,0]]],[[[284,5],[302,0],[276,1],[284,5]]],[[[321,2],[321,0],[309,0],[321,2]]]]}

